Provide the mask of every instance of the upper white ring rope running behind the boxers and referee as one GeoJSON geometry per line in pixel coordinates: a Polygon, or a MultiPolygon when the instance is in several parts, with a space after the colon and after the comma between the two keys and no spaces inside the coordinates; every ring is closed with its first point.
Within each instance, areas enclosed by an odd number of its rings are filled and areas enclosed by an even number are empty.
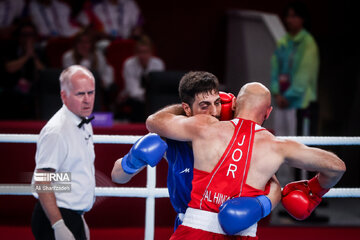
{"type": "MultiPolygon", "coordinates": [[[[94,135],[94,143],[134,144],[140,135],[94,135]]],[[[360,145],[360,137],[278,137],[291,139],[306,145],[345,146],[360,145]]],[[[0,134],[0,143],[36,143],[37,134],[0,134]]]]}

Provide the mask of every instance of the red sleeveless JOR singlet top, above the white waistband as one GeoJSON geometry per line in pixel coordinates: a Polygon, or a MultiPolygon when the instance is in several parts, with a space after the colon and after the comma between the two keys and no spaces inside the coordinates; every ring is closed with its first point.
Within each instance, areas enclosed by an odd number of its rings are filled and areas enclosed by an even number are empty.
{"type": "Polygon", "coordinates": [[[211,173],[194,168],[191,201],[189,207],[211,212],[219,212],[220,205],[234,197],[254,197],[267,195],[265,191],[246,184],[247,173],[251,162],[254,135],[264,130],[255,122],[236,118],[231,120],[235,126],[234,134],[211,173]],[[261,128],[256,130],[256,128],[261,128]]]}

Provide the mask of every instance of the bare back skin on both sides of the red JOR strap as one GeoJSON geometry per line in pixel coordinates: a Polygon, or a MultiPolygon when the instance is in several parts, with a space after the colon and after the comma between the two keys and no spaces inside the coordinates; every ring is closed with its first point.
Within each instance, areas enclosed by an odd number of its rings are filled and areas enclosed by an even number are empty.
{"type": "MultiPolygon", "coordinates": [[[[211,172],[230,143],[234,129],[230,121],[219,122],[215,119],[206,131],[202,131],[204,134],[193,140],[194,167],[211,172]]],[[[264,190],[266,183],[276,173],[283,162],[282,157],[277,154],[278,141],[268,131],[255,133],[252,159],[246,180],[248,185],[264,190]]]]}

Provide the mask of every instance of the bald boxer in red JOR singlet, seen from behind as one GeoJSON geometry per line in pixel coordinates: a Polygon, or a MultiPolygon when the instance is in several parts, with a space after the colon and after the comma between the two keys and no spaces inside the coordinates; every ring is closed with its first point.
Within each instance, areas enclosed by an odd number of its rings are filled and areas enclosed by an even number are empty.
{"type": "Polygon", "coordinates": [[[192,141],[193,145],[191,201],[183,224],[171,239],[257,239],[256,224],[238,236],[227,236],[217,217],[220,205],[232,198],[266,194],[269,179],[283,163],[318,171],[316,181],[309,181],[309,185],[316,185],[317,192],[322,193],[334,186],[345,171],[345,164],[330,152],[260,131],[272,110],[270,92],[262,84],[246,84],[233,105],[236,109],[232,121],[207,115],[186,118],[170,114],[166,108],[147,119],[151,132],[192,141]]]}

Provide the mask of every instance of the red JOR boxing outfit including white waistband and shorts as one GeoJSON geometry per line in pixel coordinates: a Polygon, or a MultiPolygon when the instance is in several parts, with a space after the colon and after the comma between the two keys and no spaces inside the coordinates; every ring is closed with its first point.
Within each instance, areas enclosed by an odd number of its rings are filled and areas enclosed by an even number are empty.
{"type": "MultiPolygon", "coordinates": [[[[256,227],[249,227],[249,230],[242,236],[228,236],[219,231],[220,226],[217,215],[220,205],[226,200],[234,197],[246,196],[255,197],[267,195],[270,191],[270,184],[265,187],[265,191],[255,189],[246,184],[246,177],[251,162],[252,147],[255,132],[265,130],[255,122],[237,118],[231,120],[235,126],[232,139],[211,173],[200,171],[194,168],[194,178],[192,181],[191,201],[189,208],[200,209],[197,214],[189,214],[187,224],[185,224],[188,210],[185,213],[184,224],[180,225],[170,240],[257,240],[256,227]],[[212,212],[211,219],[205,217],[204,212],[212,212]],[[199,222],[200,221],[200,222],[199,222]],[[205,223],[204,223],[205,221],[205,223]],[[206,222],[212,222],[207,224],[206,222]],[[215,223],[214,223],[215,222],[215,223]],[[215,224],[215,225],[212,225],[215,224]],[[209,227],[210,226],[210,227],[209,227]],[[205,230],[209,229],[209,230],[205,230]],[[255,231],[255,233],[254,233],[255,231]]],[[[196,213],[195,213],[196,214],[196,213]]]]}

